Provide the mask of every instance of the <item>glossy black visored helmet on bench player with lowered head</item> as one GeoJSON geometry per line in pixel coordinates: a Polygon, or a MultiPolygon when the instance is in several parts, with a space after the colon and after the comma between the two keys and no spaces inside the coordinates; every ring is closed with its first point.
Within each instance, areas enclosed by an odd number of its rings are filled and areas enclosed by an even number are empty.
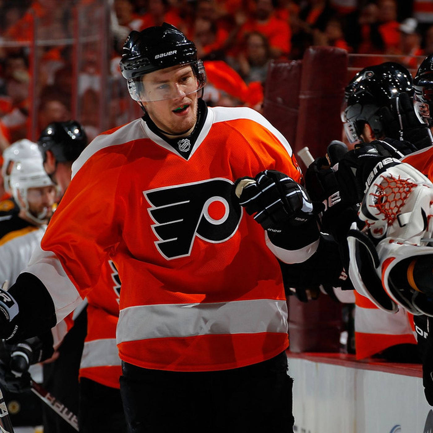
{"type": "Polygon", "coordinates": [[[412,75],[402,65],[385,62],[359,71],[345,89],[345,103],[341,113],[347,138],[360,141],[365,123],[376,137],[384,134],[379,110],[391,108],[391,100],[401,93],[414,94],[412,75]]]}

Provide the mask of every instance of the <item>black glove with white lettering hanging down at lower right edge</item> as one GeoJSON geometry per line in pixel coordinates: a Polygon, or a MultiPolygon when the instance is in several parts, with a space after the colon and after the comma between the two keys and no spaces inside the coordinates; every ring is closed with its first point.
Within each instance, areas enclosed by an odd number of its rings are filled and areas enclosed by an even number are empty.
{"type": "Polygon", "coordinates": [[[433,325],[431,317],[414,316],[418,350],[423,361],[423,386],[427,403],[433,406],[433,325]]]}

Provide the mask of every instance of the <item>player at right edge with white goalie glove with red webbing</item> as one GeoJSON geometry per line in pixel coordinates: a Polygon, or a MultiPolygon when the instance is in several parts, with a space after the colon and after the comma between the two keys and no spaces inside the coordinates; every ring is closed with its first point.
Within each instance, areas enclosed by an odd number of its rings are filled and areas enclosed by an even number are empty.
{"type": "MultiPolygon", "coordinates": [[[[415,109],[424,125],[431,124],[431,60],[432,56],[428,56],[422,62],[414,78],[415,109]]],[[[400,110],[402,112],[405,113],[401,117],[405,122],[402,122],[403,130],[409,121],[414,129],[418,128],[416,135],[420,136],[423,128],[414,121],[415,112],[409,106],[407,110],[400,110]]],[[[374,146],[374,142],[370,145],[374,146]]],[[[395,313],[398,309],[404,309],[414,314],[418,346],[423,354],[423,385],[431,405],[433,339],[430,317],[426,320],[425,315],[433,314],[430,254],[432,149],[430,145],[410,153],[403,158],[404,163],[400,163],[377,146],[363,146],[340,160],[337,174],[342,168],[343,171],[341,176],[336,176],[341,185],[350,185],[341,189],[342,202],[348,197],[351,200],[350,189],[361,193],[366,191],[359,211],[365,228],[359,231],[352,225],[349,230],[349,275],[356,290],[381,310],[395,313]],[[380,151],[375,153],[374,149],[380,151]],[[350,173],[354,171],[355,176],[351,178],[350,173]]],[[[393,314],[389,316],[394,317],[393,314]]]]}

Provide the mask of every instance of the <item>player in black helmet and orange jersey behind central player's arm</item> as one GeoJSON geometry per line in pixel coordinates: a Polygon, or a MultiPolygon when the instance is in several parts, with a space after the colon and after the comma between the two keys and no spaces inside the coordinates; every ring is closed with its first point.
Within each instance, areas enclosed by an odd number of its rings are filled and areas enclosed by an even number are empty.
{"type": "MultiPolygon", "coordinates": [[[[78,122],[54,122],[42,131],[38,144],[45,170],[63,196],[71,181],[72,163],[87,146],[86,133],[78,122]]],[[[44,366],[47,388],[61,401],[74,398],[73,381],[80,377],[78,421],[84,433],[126,430],[119,390],[122,371],[116,347],[120,279],[111,261],[101,267],[100,274],[97,286],[87,295],[87,311],[83,310],[75,318],[74,327],[59,348],[58,359],[44,366]],[[72,389],[65,387],[65,380],[71,382],[72,389]],[[107,407],[110,407],[108,412],[107,407]]],[[[67,406],[71,407],[68,403],[67,406]]],[[[54,420],[59,421],[58,417],[54,420]]],[[[64,429],[65,424],[60,427],[64,429]]]]}

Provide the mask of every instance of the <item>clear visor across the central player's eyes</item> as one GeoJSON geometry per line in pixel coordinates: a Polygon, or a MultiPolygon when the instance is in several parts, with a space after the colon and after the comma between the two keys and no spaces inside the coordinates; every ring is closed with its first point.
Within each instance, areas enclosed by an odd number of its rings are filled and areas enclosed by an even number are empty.
{"type": "Polygon", "coordinates": [[[166,72],[155,71],[128,80],[128,90],[137,102],[181,99],[202,89],[206,73],[201,60],[166,72]]]}

